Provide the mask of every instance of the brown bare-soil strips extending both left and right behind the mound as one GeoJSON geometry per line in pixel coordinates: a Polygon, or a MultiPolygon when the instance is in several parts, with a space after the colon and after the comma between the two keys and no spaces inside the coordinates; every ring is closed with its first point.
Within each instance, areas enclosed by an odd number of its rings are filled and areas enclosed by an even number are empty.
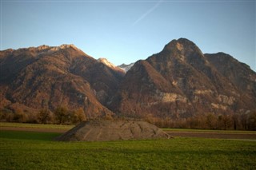
{"type": "MultiPolygon", "coordinates": [[[[60,128],[14,128],[14,127],[0,127],[0,131],[27,131],[27,132],[60,132],[64,133],[69,129],[60,128]]],[[[256,140],[256,133],[242,133],[242,132],[189,132],[189,131],[164,131],[170,136],[181,137],[202,137],[202,138],[216,138],[216,139],[241,139],[241,140],[256,140]]]]}

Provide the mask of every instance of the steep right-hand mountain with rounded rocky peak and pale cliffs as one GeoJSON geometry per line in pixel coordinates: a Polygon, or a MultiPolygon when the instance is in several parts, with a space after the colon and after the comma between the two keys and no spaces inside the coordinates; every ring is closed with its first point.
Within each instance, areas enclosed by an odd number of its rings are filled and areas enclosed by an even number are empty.
{"type": "Polygon", "coordinates": [[[186,38],[173,40],[123,78],[108,107],[129,117],[186,118],[256,109],[256,73],[228,54],[203,54],[186,38]]]}

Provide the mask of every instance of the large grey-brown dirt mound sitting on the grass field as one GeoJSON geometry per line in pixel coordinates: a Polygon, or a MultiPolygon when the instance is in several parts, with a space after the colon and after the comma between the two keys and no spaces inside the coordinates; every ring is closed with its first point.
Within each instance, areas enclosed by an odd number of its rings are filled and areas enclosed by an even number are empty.
{"type": "Polygon", "coordinates": [[[61,141],[107,141],[170,138],[145,121],[83,121],[59,136],[61,141]]]}

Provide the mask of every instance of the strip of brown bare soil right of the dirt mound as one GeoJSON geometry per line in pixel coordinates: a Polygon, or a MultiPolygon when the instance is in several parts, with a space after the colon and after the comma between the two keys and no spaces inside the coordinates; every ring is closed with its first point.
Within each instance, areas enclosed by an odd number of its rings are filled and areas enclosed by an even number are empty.
{"type": "Polygon", "coordinates": [[[165,131],[170,136],[181,137],[202,137],[202,138],[217,138],[217,139],[243,139],[256,140],[256,133],[242,133],[242,132],[177,132],[165,131]]]}

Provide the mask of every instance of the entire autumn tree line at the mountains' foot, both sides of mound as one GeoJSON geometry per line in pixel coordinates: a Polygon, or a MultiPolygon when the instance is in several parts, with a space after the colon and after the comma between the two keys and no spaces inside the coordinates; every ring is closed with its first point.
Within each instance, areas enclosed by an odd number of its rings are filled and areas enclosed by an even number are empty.
{"type": "MultiPolygon", "coordinates": [[[[120,118],[116,117],[116,119],[120,118]]],[[[112,119],[112,117],[109,119],[112,119]]],[[[193,117],[176,119],[170,117],[159,118],[150,114],[142,118],[142,120],[159,128],[256,130],[256,110],[241,114],[195,114],[193,117]]],[[[49,109],[41,109],[40,112],[30,114],[30,116],[24,113],[22,109],[16,109],[14,113],[0,112],[0,121],[76,125],[81,121],[86,121],[86,114],[82,108],[70,110],[63,106],[58,106],[53,112],[49,109]]]]}

